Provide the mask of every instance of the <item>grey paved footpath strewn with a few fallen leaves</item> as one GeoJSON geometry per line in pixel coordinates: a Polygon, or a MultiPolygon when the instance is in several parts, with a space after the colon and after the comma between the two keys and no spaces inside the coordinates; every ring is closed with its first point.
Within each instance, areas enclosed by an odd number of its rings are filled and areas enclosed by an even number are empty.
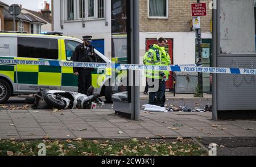
{"type": "Polygon", "coordinates": [[[256,121],[213,121],[210,112],[144,112],[141,121],[112,110],[0,110],[1,139],[256,137],[256,121]]]}

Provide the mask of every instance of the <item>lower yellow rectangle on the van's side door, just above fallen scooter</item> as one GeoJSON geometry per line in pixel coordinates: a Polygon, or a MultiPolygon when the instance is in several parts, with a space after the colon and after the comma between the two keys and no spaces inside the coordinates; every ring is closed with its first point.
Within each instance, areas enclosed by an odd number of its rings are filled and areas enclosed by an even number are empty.
{"type": "Polygon", "coordinates": [[[38,73],[38,85],[61,86],[61,73],[38,73]]]}

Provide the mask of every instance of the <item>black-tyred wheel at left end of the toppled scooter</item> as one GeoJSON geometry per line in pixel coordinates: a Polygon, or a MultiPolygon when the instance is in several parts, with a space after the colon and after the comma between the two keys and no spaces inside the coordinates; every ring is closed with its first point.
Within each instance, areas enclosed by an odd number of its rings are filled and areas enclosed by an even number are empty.
{"type": "Polygon", "coordinates": [[[57,97],[56,94],[46,93],[44,94],[44,101],[46,101],[47,105],[52,108],[64,109],[67,106],[67,103],[57,97]]]}

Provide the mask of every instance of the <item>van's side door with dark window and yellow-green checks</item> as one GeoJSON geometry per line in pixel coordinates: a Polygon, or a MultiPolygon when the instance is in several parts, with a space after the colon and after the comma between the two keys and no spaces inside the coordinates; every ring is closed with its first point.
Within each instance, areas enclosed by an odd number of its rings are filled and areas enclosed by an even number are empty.
{"type": "MultiPolygon", "coordinates": [[[[18,59],[58,60],[58,39],[18,36],[18,59]]],[[[17,65],[19,92],[30,93],[39,89],[60,90],[61,67],[41,65],[17,65]]]]}

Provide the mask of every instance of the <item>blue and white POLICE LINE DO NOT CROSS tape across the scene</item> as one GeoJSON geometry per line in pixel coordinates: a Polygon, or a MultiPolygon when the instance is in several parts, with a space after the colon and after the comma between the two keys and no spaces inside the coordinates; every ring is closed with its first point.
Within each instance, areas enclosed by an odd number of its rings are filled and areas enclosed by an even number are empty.
{"type": "Polygon", "coordinates": [[[192,72],[192,73],[220,73],[220,74],[247,74],[256,75],[256,69],[242,68],[213,68],[196,66],[195,64],[159,66],[138,64],[106,64],[96,62],[72,62],[55,60],[21,60],[0,59],[2,65],[43,65],[43,66],[65,66],[77,68],[119,69],[119,70],[168,70],[170,72],[192,72]]]}

